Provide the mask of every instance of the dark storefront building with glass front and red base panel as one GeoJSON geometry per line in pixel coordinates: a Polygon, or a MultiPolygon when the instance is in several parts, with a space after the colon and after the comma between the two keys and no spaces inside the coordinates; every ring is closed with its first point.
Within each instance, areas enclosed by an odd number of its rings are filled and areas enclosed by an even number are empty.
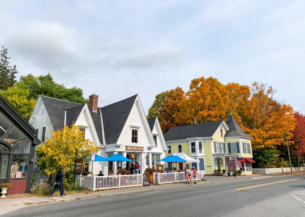
{"type": "Polygon", "coordinates": [[[28,193],[34,164],[36,130],[0,95],[0,183],[9,194],[28,193]]]}

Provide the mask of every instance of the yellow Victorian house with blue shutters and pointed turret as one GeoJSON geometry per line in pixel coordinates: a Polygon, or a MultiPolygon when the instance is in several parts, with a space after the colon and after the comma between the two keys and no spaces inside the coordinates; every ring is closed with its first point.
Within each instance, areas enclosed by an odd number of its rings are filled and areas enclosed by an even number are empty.
{"type": "MultiPolygon", "coordinates": [[[[215,169],[228,170],[228,160],[240,158],[242,168],[236,164],[236,170],[244,174],[252,174],[251,136],[242,131],[230,112],[227,122],[224,120],[196,123],[172,127],[164,134],[169,150],[166,156],[184,152],[188,156],[200,160],[190,166],[203,170],[204,174],[212,174],[215,169]]],[[[167,167],[176,167],[167,163],[167,167]]],[[[185,163],[177,164],[177,169],[183,170],[185,163]]]]}

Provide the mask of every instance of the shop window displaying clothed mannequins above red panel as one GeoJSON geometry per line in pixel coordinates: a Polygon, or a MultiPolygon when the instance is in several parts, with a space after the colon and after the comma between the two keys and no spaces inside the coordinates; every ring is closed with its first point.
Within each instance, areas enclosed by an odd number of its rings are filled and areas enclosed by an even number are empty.
{"type": "Polygon", "coordinates": [[[13,155],[13,163],[10,167],[11,169],[11,178],[27,177],[27,166],[29,164],[29,155],[13,155]]]}

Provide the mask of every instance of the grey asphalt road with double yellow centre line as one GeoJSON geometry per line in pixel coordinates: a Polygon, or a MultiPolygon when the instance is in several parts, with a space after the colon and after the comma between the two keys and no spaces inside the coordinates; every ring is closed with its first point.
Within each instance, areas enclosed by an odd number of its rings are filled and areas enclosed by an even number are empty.
{"type": "Polygon", "coordinates": [[[29,205],[3,216],[233,215],[305,216],[305,175],[29,205]]]}

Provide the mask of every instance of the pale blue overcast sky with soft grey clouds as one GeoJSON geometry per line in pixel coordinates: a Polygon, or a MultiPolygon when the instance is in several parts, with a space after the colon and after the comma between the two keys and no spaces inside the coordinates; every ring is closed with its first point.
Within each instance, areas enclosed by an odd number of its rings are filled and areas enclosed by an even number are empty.
{"type": "Polygon", "coordinates": [[[305,1],[0,0],[0,42],[20,75],[99,95],[102,107],[192,79],[265,82],[305,113],[305,1]]]}

